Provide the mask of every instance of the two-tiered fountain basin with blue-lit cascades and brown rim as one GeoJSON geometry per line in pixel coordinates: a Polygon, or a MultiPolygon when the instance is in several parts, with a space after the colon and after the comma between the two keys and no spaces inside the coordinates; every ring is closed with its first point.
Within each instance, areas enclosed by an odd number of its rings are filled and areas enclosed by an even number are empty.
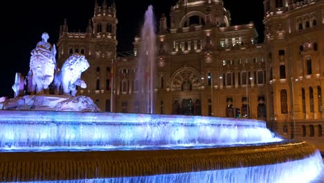
{"type": "Polygon", "coordinates": [[[314,146],[276,137],[264,121],[9,109],[1,182],[309,182],[323,171],[314,146]]]}

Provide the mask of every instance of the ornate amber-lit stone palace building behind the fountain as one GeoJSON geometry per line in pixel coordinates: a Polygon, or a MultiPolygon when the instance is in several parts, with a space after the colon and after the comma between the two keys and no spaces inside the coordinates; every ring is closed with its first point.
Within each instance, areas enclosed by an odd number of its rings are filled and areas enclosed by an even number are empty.
{"type": "MultiPolygon", "coordinates": [[[[222,0],[172,6],[170,28],[162,16],[156,35],[154,113],[262,119],[283,137],[320,145],[324,1],[264,0],[263,8],[264,42],[258,43],[253,22],[231,25],[222,0]]],[[[141,38],[134,39],[133,56],[117,58],[117,23],[116,7],[105,1],[96,3],[87,33],[69,33],[65,22],[59,66],[71,53],[86,55],[88,87],[78,94],[102,111],[136,112],[141,38]]]]}

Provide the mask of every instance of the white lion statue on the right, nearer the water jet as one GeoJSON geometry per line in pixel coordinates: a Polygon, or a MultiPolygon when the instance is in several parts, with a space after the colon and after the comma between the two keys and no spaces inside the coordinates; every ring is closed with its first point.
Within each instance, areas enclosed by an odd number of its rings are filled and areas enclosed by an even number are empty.
{"type": "Polygon", "coordinates": [[[60,87],[64,95],[75,96],[76,86],[86,88],[87,84],[81,80],[81,73],[89,68],[89,63],[84,55],[75,53],[63,64],[62,69],[55,73],[54,85],[55,94],[60,93],[60,87]]]}

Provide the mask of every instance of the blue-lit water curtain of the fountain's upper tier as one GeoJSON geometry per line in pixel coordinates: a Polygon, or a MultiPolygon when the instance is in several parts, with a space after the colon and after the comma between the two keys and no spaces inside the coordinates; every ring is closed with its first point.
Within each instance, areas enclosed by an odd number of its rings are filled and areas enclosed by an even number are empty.
{"type": "Polygon", "coordinates": [[[109,112],[0,111],[0,150],[123,150],[281,141],[263,121],[109,112]]]}

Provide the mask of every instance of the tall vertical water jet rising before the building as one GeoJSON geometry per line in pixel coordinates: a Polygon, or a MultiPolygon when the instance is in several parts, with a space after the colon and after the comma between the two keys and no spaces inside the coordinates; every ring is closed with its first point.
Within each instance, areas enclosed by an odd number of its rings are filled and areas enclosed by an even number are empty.
{"type": "Polygon", "coordinates": [[[136,104],[139,113],[154,113],[154,89],[156,80],[156,40],[153,6],[145,12],[141,29],[141,43],[138,48],[138,71],[134,82],[136,104]]]}

